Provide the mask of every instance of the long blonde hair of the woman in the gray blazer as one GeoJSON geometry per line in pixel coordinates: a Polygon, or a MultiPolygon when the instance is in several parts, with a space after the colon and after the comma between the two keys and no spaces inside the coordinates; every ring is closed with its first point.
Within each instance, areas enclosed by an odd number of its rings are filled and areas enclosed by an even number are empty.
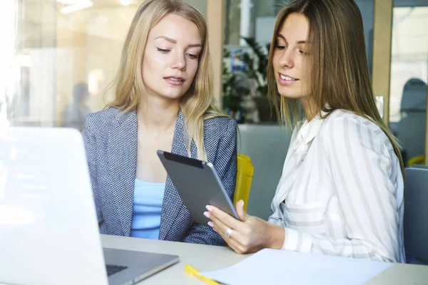
{"type": "Polygon", "coordinates": [[[116,86],[116,96],[107,107],[115,107],[123,113],[136,110],[145,94],[141,65],[148,33],[161,19],[175,14],[183,19],[193,21],[198,26],[202,38],[202,49],[199,54],[198,71],[189,90],[180,98],[180,110],[185,118],[188,132],[188,153],[192,140],[198,149],[198,158],[207,160],[203,143],[204,120],[223,117],[215,107],[213,97],[213,71],[208,47],[208,28],[205,19],[189,4],[181,0],[146,0],[138,8],[123,46],[121,63],[112,86],[116,86]]]}

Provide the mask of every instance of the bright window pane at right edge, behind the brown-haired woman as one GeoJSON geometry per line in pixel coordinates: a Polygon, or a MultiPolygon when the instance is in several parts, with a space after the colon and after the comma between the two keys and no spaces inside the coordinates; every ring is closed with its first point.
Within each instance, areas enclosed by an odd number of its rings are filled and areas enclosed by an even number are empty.
{"type": "Polygon", "coordinates": [[[389,128],[405,162],[424,155],[427,130],[428,1],[394,1],[389,128]],[[424,5],[424,6],[417,6],[424,5]]]}

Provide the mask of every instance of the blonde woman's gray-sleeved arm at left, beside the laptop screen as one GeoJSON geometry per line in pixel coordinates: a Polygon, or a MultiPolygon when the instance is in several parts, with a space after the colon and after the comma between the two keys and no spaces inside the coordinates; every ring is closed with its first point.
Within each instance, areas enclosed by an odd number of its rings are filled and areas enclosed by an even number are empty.
{"type": "Polygon", "coordinates": [[[98,180],[96,173],[96,141],[91,134],[91,115],[86,118],[85,125],[82,130],[83,143],[85,145],[86,160],[88,161],[89,175],[91,177],[91,185],[93,192],[93,201],[95,202],[96,217],[100,232],[105,232],[103,213],[101,212],[101,199],[98,192],[98,180]]]}

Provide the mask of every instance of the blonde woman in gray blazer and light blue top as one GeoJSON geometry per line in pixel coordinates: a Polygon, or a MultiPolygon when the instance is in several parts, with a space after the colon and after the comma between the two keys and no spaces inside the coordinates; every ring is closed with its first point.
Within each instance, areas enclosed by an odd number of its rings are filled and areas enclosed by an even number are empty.
{"type": "Polygon", "coordinates": [[[116,98],[83,128],[101,233],[224,244],[193,222],[156,155],[212,162],[233,197],[236,124],[214,108],[210,68],[198,11],[179,0],[140,6],[123,46],[116,98]]]}

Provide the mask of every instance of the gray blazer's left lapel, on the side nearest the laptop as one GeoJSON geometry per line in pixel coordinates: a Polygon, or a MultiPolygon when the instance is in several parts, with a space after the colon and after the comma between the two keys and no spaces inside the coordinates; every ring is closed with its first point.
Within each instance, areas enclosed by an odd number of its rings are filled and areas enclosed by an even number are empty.
{"type": "Polygon", "coordinates": [[[123,235],[131,234],[133,190],[137,163],[136,111],[120,115],[108,134],[111,190],[123,235]]]}

